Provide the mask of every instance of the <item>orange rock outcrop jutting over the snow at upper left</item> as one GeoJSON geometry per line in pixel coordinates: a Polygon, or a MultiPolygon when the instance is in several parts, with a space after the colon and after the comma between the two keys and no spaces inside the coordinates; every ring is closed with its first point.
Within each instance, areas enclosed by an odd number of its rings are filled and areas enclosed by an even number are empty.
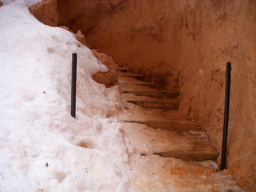
{"type": "Polygon", "coordinates": [[[35,18],[48,26],[57,26],[58,9],[56,0],[43,0],[34,6],[30,6],[30,13],[35,18]]]}

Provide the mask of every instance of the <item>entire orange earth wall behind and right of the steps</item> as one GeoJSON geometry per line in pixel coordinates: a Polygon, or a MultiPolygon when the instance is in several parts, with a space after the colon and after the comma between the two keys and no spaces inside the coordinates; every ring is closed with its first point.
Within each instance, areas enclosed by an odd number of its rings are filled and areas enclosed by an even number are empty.
{"type": "Polygon", "coordinates": [[[255,0],[58,0],[58,25],[81,30],[119,66],[179,88],[180,112],[197,119],[219,151],[232,62],[227,165],[238,185],[256,191],[255,10],[255,0]]]}

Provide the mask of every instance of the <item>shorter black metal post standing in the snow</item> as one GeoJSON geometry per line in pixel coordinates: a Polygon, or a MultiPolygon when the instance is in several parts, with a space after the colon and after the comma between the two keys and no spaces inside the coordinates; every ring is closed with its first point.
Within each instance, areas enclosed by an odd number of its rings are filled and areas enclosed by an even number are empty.
{"type": "Polygon", "coordinates": [[[76,84],[77,84],[77,54],[72,54],[71,116],[73,118],[75,118],[76,84]]]}

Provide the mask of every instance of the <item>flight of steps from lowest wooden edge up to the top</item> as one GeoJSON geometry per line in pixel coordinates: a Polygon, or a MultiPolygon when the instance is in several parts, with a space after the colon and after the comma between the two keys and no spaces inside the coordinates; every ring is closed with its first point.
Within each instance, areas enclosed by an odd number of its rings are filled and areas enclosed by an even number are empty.
{"type": "Polygon", "coordinates": [[[179,92],[158,90],[142,74],[118,70],[126,110],[118,114],[130,142],[146,145],[154,154],[185,161],[216,160],[218,151],[194,119],[178,114],[179,92]],[[134,105],[136,106],[134,106],[134,105]]]}

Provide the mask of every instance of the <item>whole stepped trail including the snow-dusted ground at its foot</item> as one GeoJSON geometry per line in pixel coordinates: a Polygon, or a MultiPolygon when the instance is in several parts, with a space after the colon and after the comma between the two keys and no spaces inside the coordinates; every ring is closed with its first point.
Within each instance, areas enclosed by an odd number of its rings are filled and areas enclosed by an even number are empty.
{"type": "Polygon", "coordinates": [[[130,191],[242,191],[218,170],[218,151],[198,122],[179,114],[177,90],[118,71],[125,110],[118,114],[129,148],[130,191]]]}

